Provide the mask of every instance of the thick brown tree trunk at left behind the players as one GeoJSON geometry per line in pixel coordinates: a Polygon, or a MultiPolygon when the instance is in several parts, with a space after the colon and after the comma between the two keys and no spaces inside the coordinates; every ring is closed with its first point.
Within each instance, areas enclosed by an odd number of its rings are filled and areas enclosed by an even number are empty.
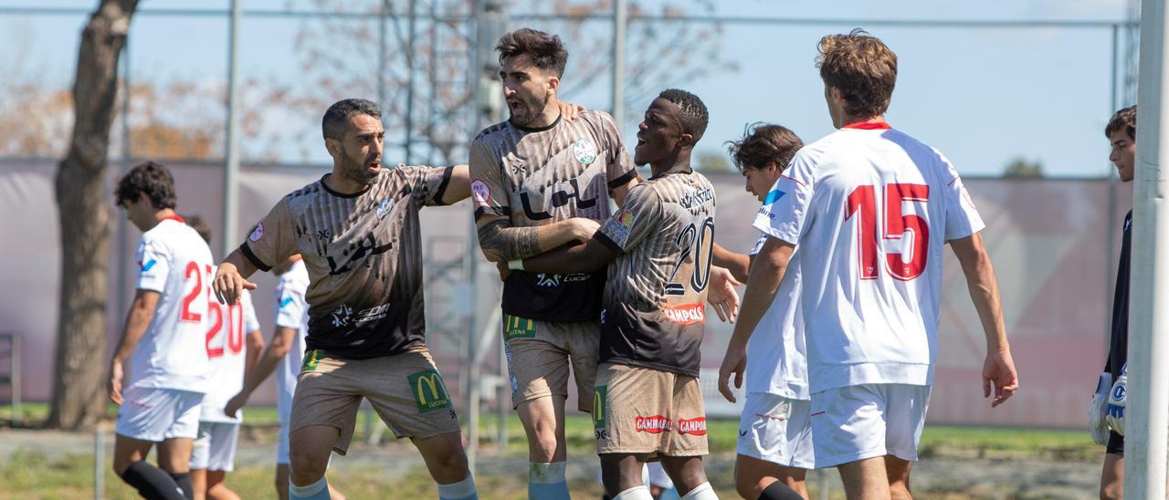
{"type": "Polygon", "coordinates": [[[105,409],[106,155],[118,93],[118,57],[137,8],[137,0],[102,0],[82,32],[72,89],[72,137],[56,176],[61,305],[48,422],[54,428],[92,426],[105,409]]]}

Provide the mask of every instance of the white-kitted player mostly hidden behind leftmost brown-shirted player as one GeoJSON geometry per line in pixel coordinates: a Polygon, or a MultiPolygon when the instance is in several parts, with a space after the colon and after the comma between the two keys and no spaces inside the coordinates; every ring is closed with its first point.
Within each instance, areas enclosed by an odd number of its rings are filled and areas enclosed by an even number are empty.
{"type": "MultiPolygon", "coordinates": [[[[281,423],[276,445],[276,494],[281,500],[288,500],[289,421],[292,416],[296,377],[300,373],[300,363],[304,362],[304,338],[309,334],[309,303],[304,299],[309,291],[309,271],[297,254],[272,268],[272,273],[279,276],[279,283],[276,285],[276,329],[272,332],[272,341],[264,347],[256,367],[248,373],[240,394],[228,401],[223,411],[227,415],[236,415],[248,403],[251,393],[276,371],[276,412],[281,423]]],[[[328,495],[333,500],[345,500],[345,495],[332,485],[328,486],[328,495]]]]}

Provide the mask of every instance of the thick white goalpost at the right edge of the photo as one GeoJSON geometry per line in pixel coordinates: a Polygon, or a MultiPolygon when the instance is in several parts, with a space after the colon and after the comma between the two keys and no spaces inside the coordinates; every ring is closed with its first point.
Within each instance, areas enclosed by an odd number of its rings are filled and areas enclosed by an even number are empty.
{"type": "Polygon", "coordinates": [[[1141,2],[1133,262],[1128,313],[1128,401],[1125,495],[1165,498],[1169,444],[1169,126],[1162,106],[1167,25],[1164,2],[1141,2]]]}

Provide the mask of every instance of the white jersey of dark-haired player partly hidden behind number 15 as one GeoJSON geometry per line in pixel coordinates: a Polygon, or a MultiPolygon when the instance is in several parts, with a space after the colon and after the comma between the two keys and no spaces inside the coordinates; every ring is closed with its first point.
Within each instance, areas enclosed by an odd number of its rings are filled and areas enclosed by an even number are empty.
{"type": "MultiPolygon", "coordinates": [[[[748,255],[755,256],[768,236],[762,235],[748,255]]],[[[772,306],[755,325],[747,343],[747,393],[767,393],[791,400],[810,400],[808,349],[800,314],[800,265],[791,254],[772,306]]]]}

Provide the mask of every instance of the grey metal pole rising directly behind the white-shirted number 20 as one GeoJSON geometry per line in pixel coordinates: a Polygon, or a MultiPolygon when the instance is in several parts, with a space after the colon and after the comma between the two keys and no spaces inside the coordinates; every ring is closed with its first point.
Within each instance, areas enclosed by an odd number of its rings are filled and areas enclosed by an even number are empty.
{"type": "Polygon", "coordinates": [[[231,21],[229,22],[227,54],[227,162],[223,166],[223,232],[220,242],[223,245],[221,257],[227,257],[235,250],[236,228],[240,211],[240,4],[243,0],[231,0],[231,21]]]}

